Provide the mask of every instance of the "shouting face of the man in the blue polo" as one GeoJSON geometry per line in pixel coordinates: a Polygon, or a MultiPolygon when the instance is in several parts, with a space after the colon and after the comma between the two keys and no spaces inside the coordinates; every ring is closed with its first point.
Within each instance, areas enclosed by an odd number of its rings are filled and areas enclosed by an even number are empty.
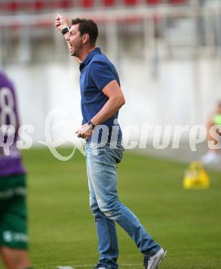
{"type": "Polygon", "coordinates": [[[78,24],[75,24],[70,28],[70,31],[67,34],[66,41],[70,54],[72,56],[78,57],[81,54],[83,48],[83,37],[78,30],[78,24]]]}

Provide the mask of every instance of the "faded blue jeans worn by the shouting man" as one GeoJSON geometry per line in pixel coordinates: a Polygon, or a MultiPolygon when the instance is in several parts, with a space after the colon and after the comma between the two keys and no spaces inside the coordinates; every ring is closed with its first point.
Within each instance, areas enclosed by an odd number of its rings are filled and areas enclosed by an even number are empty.
{"type": "Polygon", "coordinates": [[[140,252],[149,256],[160,249],[151,239],[136,215],[118,199],[117,164],[123,155],[123,147],[118,141],[116,148],[105,146],[94,148],[86,144],[87,177],[90,190],[90,209],[95,217],[98,235],[99,263],[108,269],[118,268],[117,222],[134,239],[140,252]]]}

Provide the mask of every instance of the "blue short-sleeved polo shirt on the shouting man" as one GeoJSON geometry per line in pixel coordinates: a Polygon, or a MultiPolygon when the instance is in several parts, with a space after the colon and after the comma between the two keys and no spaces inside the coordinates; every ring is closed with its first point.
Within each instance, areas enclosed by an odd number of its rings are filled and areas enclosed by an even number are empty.
{"type": "MultiPolygon", "coordinates": [[[[103,94],[102,89],[111,81],[116,80],[120,86],[120,80],[116,68],[107,57],[101,53],[100,48],[95,48],[87,55],[85,61],[80,64],[80,88],[81,88],[81,112],[83,115],[82,124],[90,121],[103,108],[108,97],[103,94]]],[[[109,129],[108,142],[111,139],[112,127],[118,129],[118,137],[122,137],[120,126],[118,125],[118,112],[107,121],[101,123],[109,129]]],[[[96,127],[98,130],[99,126],[96,127]]],[[[107,130],[107,128],[103,130],[107,130]]],[[[95,129],[95,130],[96,130],[95,129]]],[[[100,129],[98,143],[101,142],[102,129],[100,129]]],[[[115,135],[115,133],[114,133],[115,135]]],[[[116,136],[116,135],[115,135],[116,136]]],[[[112,137],[113,140],[114,137],[112,137]]],[[[91,137],[90,137],[91,139],[91,137]]],[[[89,141],[90,141],[89,139],[89,141]]]]}

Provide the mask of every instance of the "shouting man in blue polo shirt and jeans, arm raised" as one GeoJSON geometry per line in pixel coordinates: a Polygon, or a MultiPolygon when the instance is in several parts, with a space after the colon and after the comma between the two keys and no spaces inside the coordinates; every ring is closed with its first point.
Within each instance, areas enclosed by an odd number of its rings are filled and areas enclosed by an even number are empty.
{"type": "Polygon", "coordinates": [[[74,19],[70,28],[67,19],[58,15],[55,26],[65,36],[70,54],[80,63],[83,125],[77,132],[78,137],[87,141],[90,208],[95,217],[101,255],[95,268],[118,268],[117,222],[143,253],[145,269],[156,269],[166,250],[151,239],[134,213],[118,199],[117,164],[123,147],[117,119],[125,99],[116,68],[95,46],[98,28],[94,21],[74,19]]]}

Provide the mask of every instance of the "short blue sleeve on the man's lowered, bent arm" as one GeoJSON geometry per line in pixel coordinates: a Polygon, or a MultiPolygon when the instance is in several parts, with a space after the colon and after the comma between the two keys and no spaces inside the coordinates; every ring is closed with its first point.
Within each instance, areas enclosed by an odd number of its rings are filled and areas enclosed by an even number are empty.
{"type": "Polygon", "coordinates": [[[109,82],[116,80],[114,72],[107,63],[94,61],[90,66],[90,74],[94,84],[99,90],[102,90],[109,82]]]}

